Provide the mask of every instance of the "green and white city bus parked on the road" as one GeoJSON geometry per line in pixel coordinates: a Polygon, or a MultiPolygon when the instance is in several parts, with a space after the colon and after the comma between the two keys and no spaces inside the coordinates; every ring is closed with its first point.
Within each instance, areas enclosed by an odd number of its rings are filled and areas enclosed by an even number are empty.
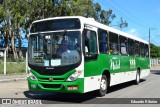
{"type": "Polygon", "coordinates": [[[93,18],[34,21],[28,45],[29,90],[55,93],[97,91],[149,75],[149,43],[93,18]]]}

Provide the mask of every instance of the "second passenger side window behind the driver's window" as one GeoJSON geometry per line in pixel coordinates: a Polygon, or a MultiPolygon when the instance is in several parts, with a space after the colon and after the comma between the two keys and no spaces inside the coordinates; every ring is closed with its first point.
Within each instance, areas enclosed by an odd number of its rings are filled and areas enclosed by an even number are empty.
{"type": "Polygon", "coordinates": [[[109,52],[111,54],[119,54],[119,45],[118,45],[118,35],[112,32],[109,32],[109,52]]]}

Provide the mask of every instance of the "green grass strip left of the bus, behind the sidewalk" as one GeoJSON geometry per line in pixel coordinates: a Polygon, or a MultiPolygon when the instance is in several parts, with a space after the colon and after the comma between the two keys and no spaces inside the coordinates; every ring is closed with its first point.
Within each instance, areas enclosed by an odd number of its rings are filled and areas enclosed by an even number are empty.
{"type": "MultiPolygon", "coordinates": [[[[6,74],[24,74],[25,72],[25,62],[7,62],[6,74]]],[[[4,74],[4,63],[2,62],[0,62],[0,74],[4,74]]]]}

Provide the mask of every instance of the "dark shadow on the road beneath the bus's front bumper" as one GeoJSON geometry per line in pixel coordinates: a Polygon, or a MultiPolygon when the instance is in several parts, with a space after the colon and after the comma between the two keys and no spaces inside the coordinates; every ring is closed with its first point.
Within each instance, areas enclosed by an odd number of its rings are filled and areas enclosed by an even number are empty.
{"type": "Polygon", "coordinates": [[[27,98],[43,100],[47,104],[55,103],[84,103],[90,102],[97,97],[96,92],[89,92],[86,94],[69,94],[69,93],[51,93],[43,91],[25,91],[24,95],[27,98]]]}

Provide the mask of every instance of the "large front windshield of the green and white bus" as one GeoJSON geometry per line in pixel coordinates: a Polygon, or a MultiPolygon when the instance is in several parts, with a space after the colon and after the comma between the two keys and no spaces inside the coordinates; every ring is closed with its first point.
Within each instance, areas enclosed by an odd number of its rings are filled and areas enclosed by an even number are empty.
{"type": "Polygon", "coordinates": [[[29,63],[38,66],[64,66],[80,61],[80,32],[64,31],[31,34],[29,63]]]}

